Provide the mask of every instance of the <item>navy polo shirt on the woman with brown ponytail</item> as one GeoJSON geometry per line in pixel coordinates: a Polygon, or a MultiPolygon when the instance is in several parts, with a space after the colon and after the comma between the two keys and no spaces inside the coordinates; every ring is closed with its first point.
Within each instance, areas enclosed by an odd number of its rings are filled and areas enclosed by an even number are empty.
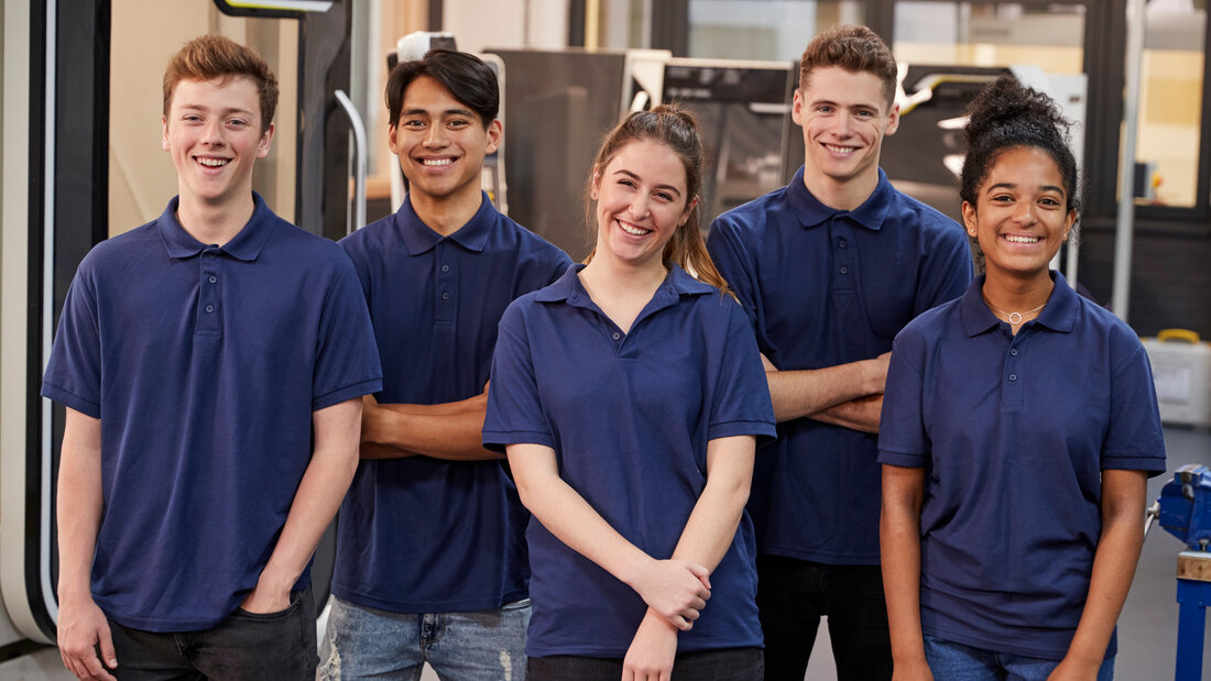
{"type": "MultiPolygon", "coordinates": [[[[624,334],[569,270],[505,311],[486,446],[555,449],[561,477],[648,555],[672,555],[706,485],[714,438],[775,434],[752,329],[735,300],[673,266],[624,334]]],[[[532,519],[533,657],[626,654],[647,606],[532,519]]],[[[761,646],[756,547],[746,513],[711,573],[712,596],[681,652],[761,646]]]]}

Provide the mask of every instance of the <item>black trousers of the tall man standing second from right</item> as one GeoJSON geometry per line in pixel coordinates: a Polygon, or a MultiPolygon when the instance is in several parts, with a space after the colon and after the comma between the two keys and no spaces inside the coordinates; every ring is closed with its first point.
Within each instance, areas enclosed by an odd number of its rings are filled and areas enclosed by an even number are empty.
{"type": "Polygon", "coordinates": [[[891,679],[891,641],[878,565],[826,565],[757,556],[757,607],[765,634],[765,679],[803,681],[820,618],[838,681],[891,679]]]}

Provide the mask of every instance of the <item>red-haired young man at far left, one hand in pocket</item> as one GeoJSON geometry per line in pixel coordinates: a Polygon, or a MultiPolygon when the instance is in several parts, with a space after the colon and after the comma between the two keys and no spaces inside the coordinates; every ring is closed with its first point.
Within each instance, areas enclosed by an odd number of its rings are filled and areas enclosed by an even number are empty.
{"type": "Polygon", "coordinates": [[[179,194],[88,253],[42,394],[59,461],[63,663],[79,679],[315,677],[310,560],[381,387],[340,248],[252,191],[277,81],[186,44],[163,77],[179,194]]]}

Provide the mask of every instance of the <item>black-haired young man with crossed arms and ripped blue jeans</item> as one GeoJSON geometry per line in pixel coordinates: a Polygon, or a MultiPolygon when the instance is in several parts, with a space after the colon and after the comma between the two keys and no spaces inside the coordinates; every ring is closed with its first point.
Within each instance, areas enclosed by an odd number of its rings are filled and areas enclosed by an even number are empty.
{"type": "Polygon", "coordinates": [[[391,151],[409,191],[342,242],[380,344],[362,462],[342,507],[320,675],[524,679],[529,565],[504,457],[481,446],[497,324],[570,264],[480,189],[497,150],[497,76],[434,50],[388,80],[391,151]]]}

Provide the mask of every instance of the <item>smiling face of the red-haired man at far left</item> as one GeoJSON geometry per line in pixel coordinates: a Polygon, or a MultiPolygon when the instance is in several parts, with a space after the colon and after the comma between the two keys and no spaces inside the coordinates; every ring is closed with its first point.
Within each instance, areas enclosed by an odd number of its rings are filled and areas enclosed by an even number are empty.
{"type": "Polygon", "coordinates": [[[251,201],[253,163],[269,154],[274,137],[271,125],[262,132],[260,98],[251,80],[182,80],[162,122],[182,201],[251,201]]]}

